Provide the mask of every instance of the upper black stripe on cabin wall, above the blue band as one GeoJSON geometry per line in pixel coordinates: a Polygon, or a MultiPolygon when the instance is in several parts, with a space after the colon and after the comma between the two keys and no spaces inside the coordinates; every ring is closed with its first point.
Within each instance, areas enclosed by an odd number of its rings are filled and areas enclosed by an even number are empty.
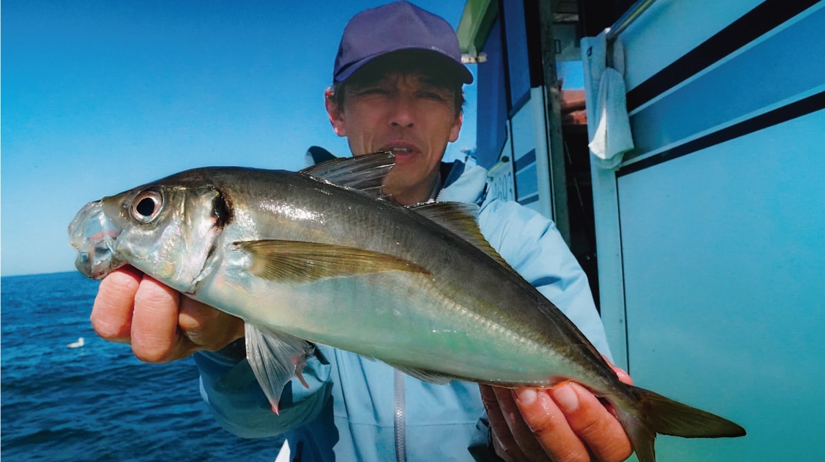
{"type": "Polygon", "coordinates": [[[632,111],[798,15],[818,0],[766,0],[627,92],[632,111]]]}

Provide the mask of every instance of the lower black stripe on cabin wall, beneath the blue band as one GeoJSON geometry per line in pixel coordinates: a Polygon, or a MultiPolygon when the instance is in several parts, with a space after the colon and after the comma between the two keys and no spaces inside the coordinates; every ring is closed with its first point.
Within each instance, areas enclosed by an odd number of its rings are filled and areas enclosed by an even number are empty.
{"type": "Polygon", "coordinates": [[[743,120],[738,124],[731,125],[728,128],[722,128],[714,133],[709,133],[701,138],[696,138],[693,141],[686,142],[680,146],[668,149],[667,151],[659,152],[653,156],[634,162],[629,166],[620,168],[616,171],[616,177],[629,175],[639,170],[648,167],[656,166],[662,162],[672,161],[676,157],[686,156],[692,152],[701,151],[708,147],[730,141],[733,138],[739,138],[744,135],[758,132],[761,129],[769,128],[774,125],[782,124],[791,119],[796,119],[803,115],[811,114],[818,110],[825,110],[825,91],[821,91],[812,96],[808,96],[802,100],[790,103],[775,110],[766,112],[765,114],[757,115],[752,119],[743,120]]]}

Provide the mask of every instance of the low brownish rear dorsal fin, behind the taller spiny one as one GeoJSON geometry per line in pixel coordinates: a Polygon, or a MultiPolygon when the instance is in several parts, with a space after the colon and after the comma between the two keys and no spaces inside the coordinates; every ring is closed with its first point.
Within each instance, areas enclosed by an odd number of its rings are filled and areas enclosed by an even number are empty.
{"type": "MultiPolygon", "coordinates": [[[[452,231],[470,244],[475,245],[499,264],[510,268],[493,246],[484,239],[479,229],[479,206],[464,202],[427,202],[408,206],[409,209],[427,217],[438,225],[452,231]]],[[[515,270],[514,270],[515,271],[515,270]]]]}

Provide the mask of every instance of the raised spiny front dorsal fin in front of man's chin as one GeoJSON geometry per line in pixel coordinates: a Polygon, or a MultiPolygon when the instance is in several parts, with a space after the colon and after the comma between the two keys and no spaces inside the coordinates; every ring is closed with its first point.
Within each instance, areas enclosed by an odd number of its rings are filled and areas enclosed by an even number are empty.
{"type": "Polygon", "coordinates": [[[301,173],[349,189],[356,189],[375,198],[381,194],[384,176],[395,165],[395,155],[389,151],[373,152],[365,156],[333,159],[307,167],[301,173]]]}

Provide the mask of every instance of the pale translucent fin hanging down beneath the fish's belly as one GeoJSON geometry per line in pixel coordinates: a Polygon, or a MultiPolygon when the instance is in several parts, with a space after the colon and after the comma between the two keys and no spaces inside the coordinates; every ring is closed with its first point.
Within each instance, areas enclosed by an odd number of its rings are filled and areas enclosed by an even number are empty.
{"type": "Polygon", "coordinates": [[[247,360],[258,384],[278,413],[278,400],[287,382],[296,376],[309,388],[301,371],[307,358],[314,354],[312,343],[283,332],[247,323],[244,326],[247,343],[247,360]]]}

